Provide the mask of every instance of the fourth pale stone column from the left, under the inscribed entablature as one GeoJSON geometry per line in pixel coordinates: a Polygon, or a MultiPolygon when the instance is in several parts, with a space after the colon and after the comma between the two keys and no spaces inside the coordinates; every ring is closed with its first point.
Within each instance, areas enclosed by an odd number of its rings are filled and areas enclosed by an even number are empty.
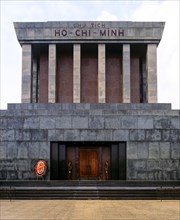
{"type": "Polygon", "coordinates": [[[106,47],[98,44],[98,102],[106,102],[106,47]]]}

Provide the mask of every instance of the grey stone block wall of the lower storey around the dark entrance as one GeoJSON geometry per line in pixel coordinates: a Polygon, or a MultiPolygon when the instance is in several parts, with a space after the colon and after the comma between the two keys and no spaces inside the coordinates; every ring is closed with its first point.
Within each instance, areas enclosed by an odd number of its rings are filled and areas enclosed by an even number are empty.
{"type": "Polygon", "coordinates": [[[126,142],[127,180],[180,179],[180,111],[170,104],[10,104],[0,111],[0,179],[36,179],[50,143],[126,142]]]}

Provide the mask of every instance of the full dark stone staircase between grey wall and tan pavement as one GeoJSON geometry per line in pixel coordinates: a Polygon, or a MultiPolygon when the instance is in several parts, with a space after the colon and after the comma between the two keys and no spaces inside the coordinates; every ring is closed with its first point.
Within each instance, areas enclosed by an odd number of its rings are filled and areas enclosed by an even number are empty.
{"type": "Polygon", "coordinates": [[[180,199],[178,181],[1,181],[0,199],[180,199]]]}

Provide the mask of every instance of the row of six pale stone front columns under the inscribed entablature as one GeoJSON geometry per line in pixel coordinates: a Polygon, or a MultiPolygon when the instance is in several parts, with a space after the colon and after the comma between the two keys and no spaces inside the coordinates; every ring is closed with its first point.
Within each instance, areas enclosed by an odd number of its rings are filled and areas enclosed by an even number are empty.
{"type": "MultiPolygon", "coordinates": [[[[157,102],[156,44],[147,45],[147,101],[157,102]]],[[[56,102],[56,44],[48,50],[48,103],[56,102]]],[[[98,44],[98,103],[106,102],[106,44],[98,44]]],[[[122,47],[123,103],[131,103],[130,44],[122,47]]],[[[22,45],[22,103],[32,102],[33,94],[32,45],[22,45]]],[[[73,45],[73,102],[81,102],[81,44],[73,45]]]]}

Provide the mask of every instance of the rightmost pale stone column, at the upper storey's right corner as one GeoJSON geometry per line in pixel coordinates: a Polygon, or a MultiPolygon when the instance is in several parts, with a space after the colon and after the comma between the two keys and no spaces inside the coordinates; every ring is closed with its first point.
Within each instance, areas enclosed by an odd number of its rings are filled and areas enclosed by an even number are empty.
{"type": "Polygon", "coordinates": [[[148,103],[157,103],[156,44],[147,45],[147,101],[148,103]]]}

